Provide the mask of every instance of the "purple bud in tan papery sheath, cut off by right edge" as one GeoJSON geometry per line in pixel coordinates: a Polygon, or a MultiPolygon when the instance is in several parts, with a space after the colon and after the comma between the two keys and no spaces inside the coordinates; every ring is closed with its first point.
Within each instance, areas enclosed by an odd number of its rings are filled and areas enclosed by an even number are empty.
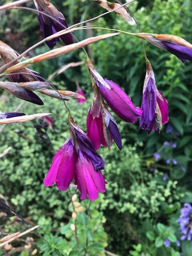
{"type": "Polygon", "coordinates": [[[185,60],[192,62],[192,44],[179,36],[147,33],[138,33],[137,35],[151,44],[174,54],[182,62],[185,60]]]}

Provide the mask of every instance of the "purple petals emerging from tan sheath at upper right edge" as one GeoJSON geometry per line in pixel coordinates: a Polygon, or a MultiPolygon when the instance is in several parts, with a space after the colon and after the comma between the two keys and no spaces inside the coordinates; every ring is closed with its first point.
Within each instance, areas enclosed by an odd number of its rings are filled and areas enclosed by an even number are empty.
{"type": "Polygon", "coordinates": [[[162,44],[166,47],[168,52],[177,56],[182,62],[185,60],[192,62],[192,48],[166,41],[162,41],[162,44]]]}

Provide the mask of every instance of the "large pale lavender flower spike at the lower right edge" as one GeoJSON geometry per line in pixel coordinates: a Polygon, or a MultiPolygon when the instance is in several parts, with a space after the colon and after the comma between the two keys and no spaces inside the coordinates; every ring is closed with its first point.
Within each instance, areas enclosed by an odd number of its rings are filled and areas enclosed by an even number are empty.
{"type": "Polygon", "coordinates": [[[185,203],[177,222],[180,223],[181,240],[191,240],[192,236],[192,207],[185,203]]]}

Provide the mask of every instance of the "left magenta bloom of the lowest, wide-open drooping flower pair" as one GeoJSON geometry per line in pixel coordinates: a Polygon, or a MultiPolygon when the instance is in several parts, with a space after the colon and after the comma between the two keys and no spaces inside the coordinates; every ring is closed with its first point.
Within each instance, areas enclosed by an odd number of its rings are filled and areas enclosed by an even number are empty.
{"type": "Polygon", "coordinates": [[[58,152],[56,152],[51,167],[44,178],[44,185],[51,186],[56,182],[59,190],[67,190],[74,178],[76,151],[71,141],[68,140],[58,152]]]}

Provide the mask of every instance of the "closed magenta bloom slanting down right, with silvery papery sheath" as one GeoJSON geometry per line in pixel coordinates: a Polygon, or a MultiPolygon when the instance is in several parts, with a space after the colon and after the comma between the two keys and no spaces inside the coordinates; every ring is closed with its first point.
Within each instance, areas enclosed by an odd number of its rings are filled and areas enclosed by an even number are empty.
{"type": "Polygon", "coordinates": [[[127,94],[118,86],[118,84],[103,79],[96,71],[92,62],[88,62],[90,75],[110,108],[125,122],[133,124],[141,116],[142,110],[136,107],[127,94]]]}

